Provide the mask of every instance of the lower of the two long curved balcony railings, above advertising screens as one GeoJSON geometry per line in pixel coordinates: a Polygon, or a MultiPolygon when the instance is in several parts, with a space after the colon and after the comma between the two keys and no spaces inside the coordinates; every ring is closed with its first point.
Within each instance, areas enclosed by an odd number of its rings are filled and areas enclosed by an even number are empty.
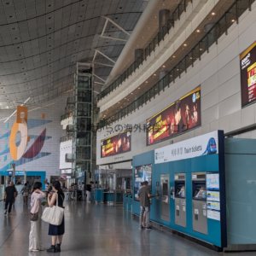
{"type": "Polygon", "coordinates": [[[166,74],[163,79],[154,84],[148,91],[142,96],[137,98],[136,101],[131,102],[130,105],[121,109],[119,112],[113,114],[113,116],[102,119],[97,128],[102,129],[107,125],[113,124],[113,122],[122,119],[126,114],[133,112],[135,109],[141,107],[145,102],[148,102],[154,96],[159,95],[161,90],[165,90],[169,87],[169,84],[175,82],[175,79],[180,78],[183,72],[187,71],[187,68],[194,66],[195,61],[201,60],[201,55],[208,52],[212,44],[218,43],[224,33],[228,34],[228,29],[235,22],[238,23],[238,18],[247,10],[251,9],[251,5],[256,0],[236,0],[230,8],[224,13],[224,15],[212,26],[211,30],[201,39],[201,41],[195,44],[195,47],[184,56],[183,60],[179,61],[172,70],[166,74]]]}

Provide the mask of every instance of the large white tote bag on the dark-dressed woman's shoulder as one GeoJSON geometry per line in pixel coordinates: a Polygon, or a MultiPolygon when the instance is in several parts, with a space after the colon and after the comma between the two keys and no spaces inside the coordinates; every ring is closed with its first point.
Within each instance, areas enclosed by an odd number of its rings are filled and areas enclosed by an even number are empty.
{"type": "Polygon", "coordinates": [[[58,206],[58,194],[56,193],[56,205],[44,209],[42,219],[49,224],[59,226],[64,216],[64,209],[58,206]]]}

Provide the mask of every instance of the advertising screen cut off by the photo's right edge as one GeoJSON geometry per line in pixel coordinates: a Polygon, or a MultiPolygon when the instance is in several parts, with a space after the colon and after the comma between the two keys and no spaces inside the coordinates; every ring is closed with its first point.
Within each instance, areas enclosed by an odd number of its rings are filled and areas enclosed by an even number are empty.
{"type": "Polygon", "coordinates": [[[241,107],[256,101],[256,43],[240,55],[241,107]]]}

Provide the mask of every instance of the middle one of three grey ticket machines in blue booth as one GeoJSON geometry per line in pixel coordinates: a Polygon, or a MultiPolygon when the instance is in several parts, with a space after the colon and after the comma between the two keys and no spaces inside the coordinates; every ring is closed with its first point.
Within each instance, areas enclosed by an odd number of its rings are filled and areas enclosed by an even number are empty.
{"type": "Polygon", "coordinates": [[[174,174],[174,189],[175,189],[175,224],[186,228],[186,174],[174,174]]]}

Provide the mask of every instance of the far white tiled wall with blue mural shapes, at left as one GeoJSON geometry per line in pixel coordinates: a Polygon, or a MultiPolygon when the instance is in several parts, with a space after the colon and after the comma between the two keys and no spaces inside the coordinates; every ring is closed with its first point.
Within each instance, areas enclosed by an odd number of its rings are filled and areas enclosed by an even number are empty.
{"type": "MultiPolygon", "coordinates": [[[[60,172],[60,138],[65,136],[65,131],[61,127],[61,114],[65,113],[67,97],[71,93],[65,93],[49,102],[44,102],[42,106],[28,107],[28,136],[30,142],[26,145],[26,152],[30,150],[28,157],[21,157],[15,161],[16,171],[26,172],[46,172],[46,178],[59,176],[60,172]],[[44,119],[42,114],[44,113],[44,119]],[[45,130],[45,136],[42,132],[45,130]],[[41,137],[40,137],[41,135],[41,137]],[[38,141],[37,141],[38,139],[38,141]],[[44,142],[44,144],[42,144],[44,142]],[[41,146],[43,147],[41,148],[41,146]]],[[[28,102],[29,103],[29,102],[28,102]]],[[[1,110],[0,112],[0,173],[10,169],[10,162],[13,161],[9,153],[9,132],[15,123],[14,114],[6,123],[4,119],[14,113],[14,109],[1,110]]],[[[21,136],[16,136],[15,142],[20,141],[21,136]]]]}

